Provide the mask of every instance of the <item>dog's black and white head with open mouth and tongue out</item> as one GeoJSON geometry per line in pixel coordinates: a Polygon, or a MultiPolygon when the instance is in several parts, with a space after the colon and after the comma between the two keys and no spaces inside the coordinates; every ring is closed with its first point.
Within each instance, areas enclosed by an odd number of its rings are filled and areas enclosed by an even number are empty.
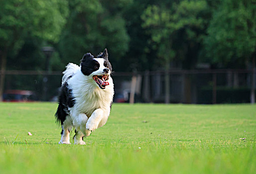
{"type": "Polygon", "coordinates": [[[108,80],[112,71],[109,62],[108,51],[104,50],[95,58],[91,53],[86,53],[81,60],[81,72],[85,76],[92,77],[92,80],[102,89],[109,85],[108,80]]]}

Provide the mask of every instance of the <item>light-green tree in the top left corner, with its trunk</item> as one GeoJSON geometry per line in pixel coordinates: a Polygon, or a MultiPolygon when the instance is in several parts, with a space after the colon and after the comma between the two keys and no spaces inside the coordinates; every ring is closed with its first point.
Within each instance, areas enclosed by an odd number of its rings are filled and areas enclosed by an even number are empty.
{"type": "Polygon", "coordinates": [[[7,56],[14,56],[26,36],[55,43],[66,22],[66,0],[1,0],[0,1],[0,100],[7,56]]]}

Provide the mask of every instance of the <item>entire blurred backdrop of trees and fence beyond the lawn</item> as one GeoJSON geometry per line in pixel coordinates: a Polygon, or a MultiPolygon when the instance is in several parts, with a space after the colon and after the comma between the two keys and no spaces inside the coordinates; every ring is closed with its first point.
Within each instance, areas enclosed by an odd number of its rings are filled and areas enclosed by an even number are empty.
{"type": "Polygon", "coordinates": [[[115,102],[255,102],[255,0],[0,0],[0,100],[57,101],[105,48],[115,102]]]}

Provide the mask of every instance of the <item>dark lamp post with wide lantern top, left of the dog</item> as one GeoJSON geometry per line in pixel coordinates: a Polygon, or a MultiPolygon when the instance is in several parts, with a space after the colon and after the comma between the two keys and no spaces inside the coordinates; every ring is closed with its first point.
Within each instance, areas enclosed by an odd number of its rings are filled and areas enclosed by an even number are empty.
{"type": "MultiPolygon", "coordinates": [[[[47,74],[49,74],[49,72],[50,72],[50,57],[51,57],[52,53],[54,52],[54,49],[53,49],[53,47],[42,47],[42,52],[44,53],[45,58],[46,58],[45,70],[47,71],[47,74]]],[[[47,82],[48,82],[48,77],[47,77],[47,75],[45,75],[43,78],[43,97],[42,97],[44,101],[47,100],[47,91],[48,91],[47,82]]]]}

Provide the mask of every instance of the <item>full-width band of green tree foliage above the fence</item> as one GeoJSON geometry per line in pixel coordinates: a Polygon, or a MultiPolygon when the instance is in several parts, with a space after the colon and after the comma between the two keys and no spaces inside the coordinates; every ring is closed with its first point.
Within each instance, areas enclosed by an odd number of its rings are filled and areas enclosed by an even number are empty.
{"type": "Polygon", "coordinates": [[[44,69],[47,44],[52,70],[104,48],[116,71],[241,68],[256,51],[255,16],[254,0],[0,0],[0,50],[24,59],[7,69],[44,69]]]}

